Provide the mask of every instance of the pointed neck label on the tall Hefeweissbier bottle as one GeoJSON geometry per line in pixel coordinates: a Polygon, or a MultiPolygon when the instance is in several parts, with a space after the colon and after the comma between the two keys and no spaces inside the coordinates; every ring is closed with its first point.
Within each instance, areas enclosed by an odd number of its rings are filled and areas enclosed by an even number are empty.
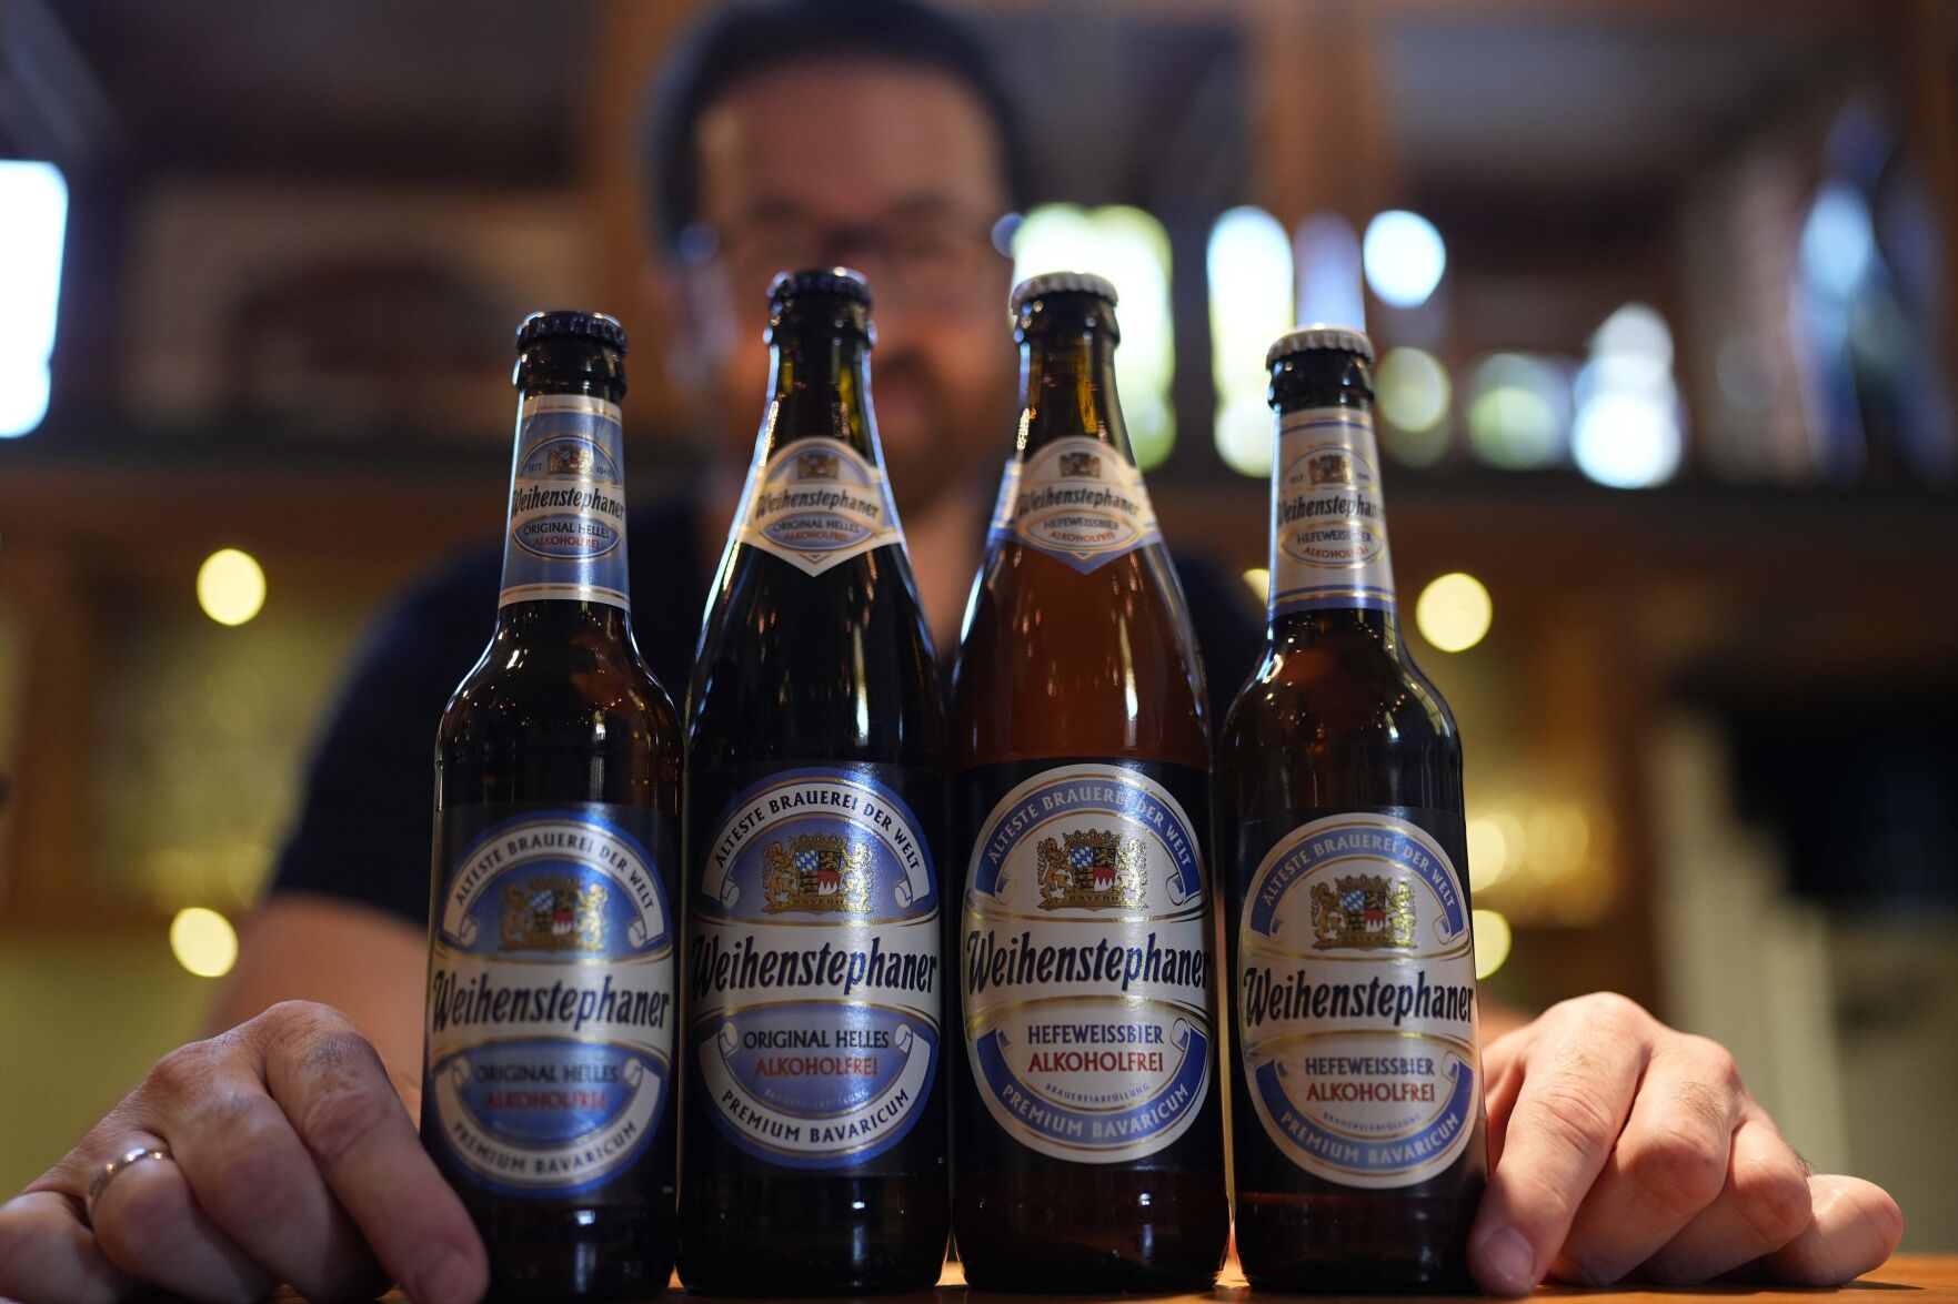
{"type": "Polygon", "coordinates": [[[1006,462],[993,535],[1010,535],[1083,574],[1163,542],[1142,472],[1085,435],[1055,439],[1024,460],[1006,462]]]}

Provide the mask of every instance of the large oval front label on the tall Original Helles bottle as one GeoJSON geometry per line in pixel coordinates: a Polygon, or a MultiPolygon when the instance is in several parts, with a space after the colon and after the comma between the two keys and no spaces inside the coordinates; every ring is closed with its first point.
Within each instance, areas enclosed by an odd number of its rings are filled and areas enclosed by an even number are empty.
{"type": "Polygon", "coordinates": [[[691,1053],[742,1151],[860,1165],[905,1140],[938,1071],[938,873],[918,816],[865,769],[742,791],[703,846],[691,1053]]]}

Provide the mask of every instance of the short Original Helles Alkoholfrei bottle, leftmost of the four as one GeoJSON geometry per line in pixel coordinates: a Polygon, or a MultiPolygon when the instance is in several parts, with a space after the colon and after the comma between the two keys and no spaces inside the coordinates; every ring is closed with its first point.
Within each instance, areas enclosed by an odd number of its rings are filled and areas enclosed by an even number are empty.
{"type": "Polygon", "coordinates": [[[421,1136],[497,1300],[640,1300],[674,1271],[679,724],[632,642],[625,331],[517,331],[495,634],[435,750],[421,1136]]]}

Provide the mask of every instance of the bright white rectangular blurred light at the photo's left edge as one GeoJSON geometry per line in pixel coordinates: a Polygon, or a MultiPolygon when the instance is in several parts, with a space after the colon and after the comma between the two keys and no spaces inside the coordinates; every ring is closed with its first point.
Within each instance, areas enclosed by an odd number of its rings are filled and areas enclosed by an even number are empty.
{"type": "Polygon", "coordinates": [[[47,417],[67,227],[61,168],[0,159],[0,439],[47,417]]]}

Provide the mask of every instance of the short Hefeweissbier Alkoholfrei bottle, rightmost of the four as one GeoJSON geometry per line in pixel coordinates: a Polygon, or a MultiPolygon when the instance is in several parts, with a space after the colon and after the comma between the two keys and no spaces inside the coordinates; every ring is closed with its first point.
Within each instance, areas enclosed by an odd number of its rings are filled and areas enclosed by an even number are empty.
{"type": "Polygon", "coordinates": [[[1472,1290],[1488,1175],[1461,740],[1400,642],[1373,345],[1271,347],[1271,630],[1218,746],[1237,1255],[1279,1290],[1472,1290]]]}

